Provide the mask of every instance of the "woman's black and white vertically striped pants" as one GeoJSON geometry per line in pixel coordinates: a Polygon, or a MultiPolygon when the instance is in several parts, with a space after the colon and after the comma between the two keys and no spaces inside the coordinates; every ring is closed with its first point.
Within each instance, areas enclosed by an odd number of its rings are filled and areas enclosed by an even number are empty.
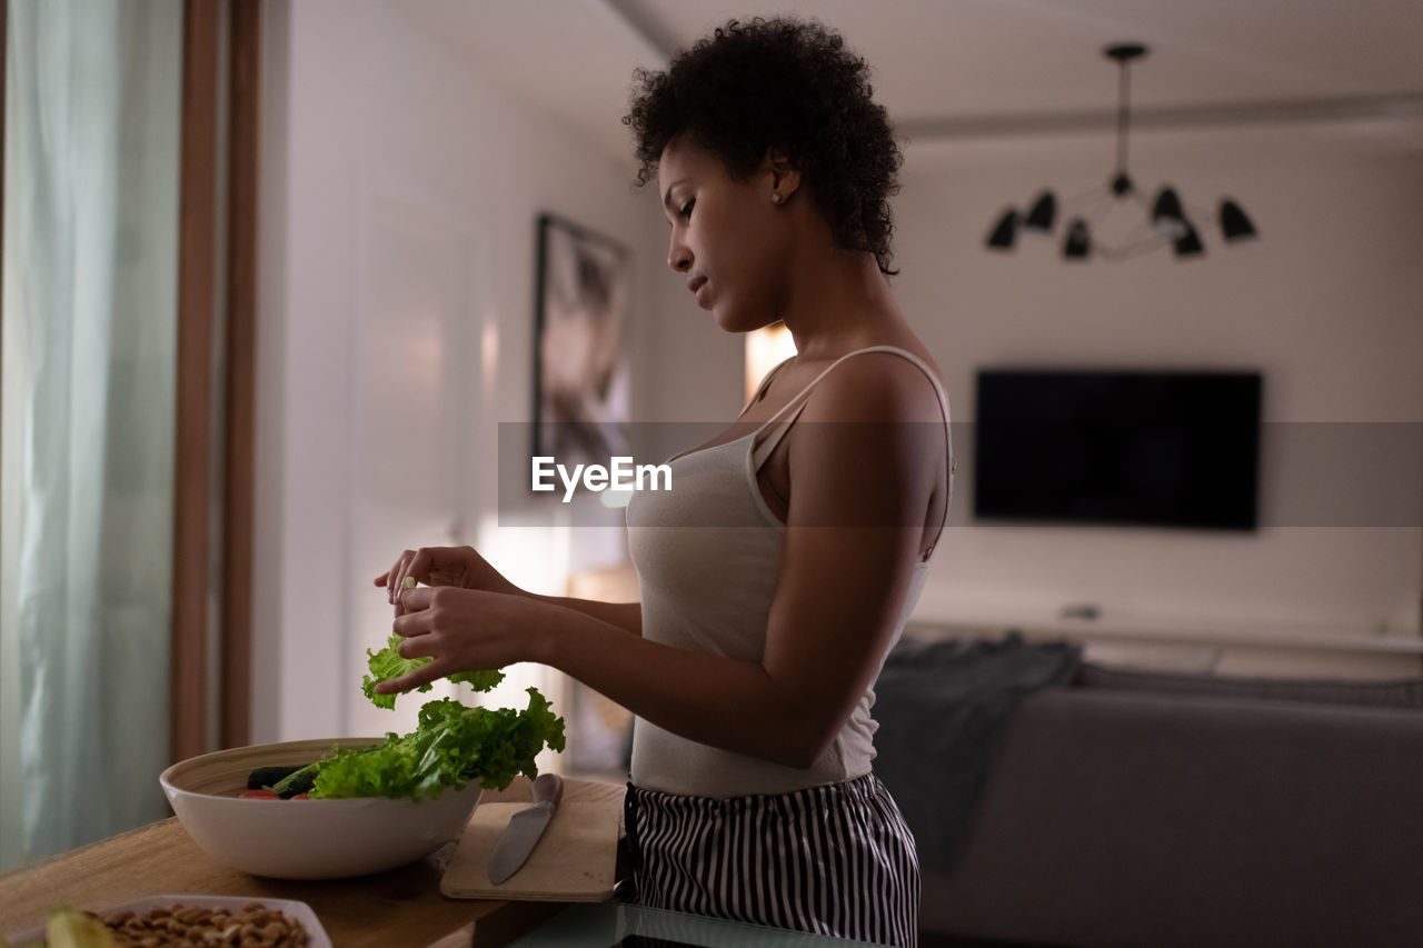
{"type": "Polygon", "coordinates": [[[872,774],[776,796],[628,784],[636,902],[756,925],[915,945],[919,861],[872,774]]]}

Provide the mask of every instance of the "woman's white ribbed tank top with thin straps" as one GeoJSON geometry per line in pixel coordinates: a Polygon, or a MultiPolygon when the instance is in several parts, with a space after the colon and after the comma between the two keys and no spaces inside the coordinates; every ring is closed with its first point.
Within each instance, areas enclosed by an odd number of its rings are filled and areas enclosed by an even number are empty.
{"type": "MultiPolygon", "coordinates": [[[[750,434],[669,461],[672,490],[633,495],[628,505],[628,544],[642,591],[643,638],[736,659],[760,662],[764,658],[785,524],[767,507],[757,471],[800,416],[815,384],[845,359],[865,352],[904,356],[933,383],[943,409],[952,495],[949,404],[929,366],[894,346],[871,346],[841,356],[750,434]],[[770,430],[771,426],[777,427],[770,430]],[[757,436],[767,430],[770,436],[758,441],[757,436]]],[[[945,520],[948,500],[946,495],[945,520]]],[[[939,530],[942,537],[942,524],[939,530]]],[[[928,557],[915,565],[887,653],[899,641],[919,601],[928,568],[928,557]]],[[[881,668],[884,658],[879,656],[881,668]]],[[[877,668],[875,678],[878,675],[877,668]]],[[[632,780],[647,790],[717,799],[791,793],[852,780],[869,773],[875,756],[877,725],[869,716],[874,702],[871,680],[844,729],[808,769],[720,750],[639,717],[633,725],[632,780]]]]}

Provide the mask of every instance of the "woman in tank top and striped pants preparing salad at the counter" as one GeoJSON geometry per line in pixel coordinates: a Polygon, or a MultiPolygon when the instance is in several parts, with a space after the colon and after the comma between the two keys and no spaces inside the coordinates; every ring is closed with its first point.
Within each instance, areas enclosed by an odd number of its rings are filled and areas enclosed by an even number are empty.
{"type": "Polygon", "coordinates": [[[914,840],[871,771],[872,685],[946,518],[948,404],[891,292],[899,152],[867,65],[818,24],[730,23],[639,71],[625,120],[667,265],[727,332],[797,354],[628,508],[640,604],[535,596],[470,548],[376,579],[383,690],[536,660],[636,717],[628,833],[643,904],[914,944],[914,840]],[[403,591],[406,576],[434,588],[403,591]]]}

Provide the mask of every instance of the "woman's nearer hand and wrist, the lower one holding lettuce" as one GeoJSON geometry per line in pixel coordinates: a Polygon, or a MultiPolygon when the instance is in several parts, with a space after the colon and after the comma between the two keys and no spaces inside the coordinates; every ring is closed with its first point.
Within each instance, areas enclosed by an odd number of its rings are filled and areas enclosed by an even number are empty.
{"type": "Polygon", "coordinates": [[[408,675],[376,686],[377,695],[408,692],[435,679],[472,669],[497,669],[529,659],[525,629],[541,604],[522,596],[458,586],[417,586],[400,595],[403,613],[394,632],[400,658],[430,658],[408,675]]]}

